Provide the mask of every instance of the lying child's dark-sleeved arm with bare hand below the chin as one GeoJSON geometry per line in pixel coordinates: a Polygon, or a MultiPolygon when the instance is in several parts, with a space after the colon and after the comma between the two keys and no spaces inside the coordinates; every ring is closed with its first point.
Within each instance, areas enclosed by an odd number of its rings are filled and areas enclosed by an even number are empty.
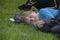
{"type": "Polygon", "coordinates": [[[56,21],[55,20],[48,20],[48,19],[46,19],[46,20],[42,20],[42,21],[38,21],[38,22],[36,22],[36,25],[38,26],[38,28],[41,28],[41,27],[43,27],[43,26],[49,26],[49,27],[53,27],[53,26],[55,26],[57,23],[56,23],[56,21]]]}

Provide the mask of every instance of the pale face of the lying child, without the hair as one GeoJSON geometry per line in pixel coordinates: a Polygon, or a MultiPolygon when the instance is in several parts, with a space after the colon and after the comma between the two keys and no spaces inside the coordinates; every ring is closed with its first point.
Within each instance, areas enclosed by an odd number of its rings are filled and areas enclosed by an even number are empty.
{"type": "Polygon", "coordinates": [[[28,16],[26,16],[26,22],[27,23],[34,23],[37,20],[39,20],[39,17],[35,12],[33,12],[33,13],[29,14],[28,16]]]}

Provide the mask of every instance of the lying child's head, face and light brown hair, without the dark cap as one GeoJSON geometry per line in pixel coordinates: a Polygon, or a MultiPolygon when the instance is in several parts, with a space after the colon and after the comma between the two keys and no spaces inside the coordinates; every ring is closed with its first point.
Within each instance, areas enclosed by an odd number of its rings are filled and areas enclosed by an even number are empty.
{"type": "Polygon", "coordinates": [[[26,23],[33,23],[37,20],[39,20],[39,16],[34,11],[26,11],[20,18],[21,21],[24,21],[26,23]]]}

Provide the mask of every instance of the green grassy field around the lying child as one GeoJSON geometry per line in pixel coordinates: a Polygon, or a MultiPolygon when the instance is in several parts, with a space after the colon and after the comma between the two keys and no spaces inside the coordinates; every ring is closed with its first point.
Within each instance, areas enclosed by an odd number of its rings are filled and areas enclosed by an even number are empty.
{"type": "Polygon", "coordinates": [[[59,40],[55,35],[37,31],[29,25],[14,24],[9,21],[26,0],[0,0],[0,40],[59,40]]]}

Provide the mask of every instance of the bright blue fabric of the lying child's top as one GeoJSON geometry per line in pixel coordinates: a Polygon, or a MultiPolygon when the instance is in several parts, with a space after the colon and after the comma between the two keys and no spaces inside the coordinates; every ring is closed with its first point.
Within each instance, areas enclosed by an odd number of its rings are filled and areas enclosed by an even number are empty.
{"type": "Polygon", "coordinates": [[[39,10],[39,16],[42,19],[51,19],[55,18],[55,16],[58,14],[59,10],[52,9],[52,8],[42,8],[39,10]]]}

